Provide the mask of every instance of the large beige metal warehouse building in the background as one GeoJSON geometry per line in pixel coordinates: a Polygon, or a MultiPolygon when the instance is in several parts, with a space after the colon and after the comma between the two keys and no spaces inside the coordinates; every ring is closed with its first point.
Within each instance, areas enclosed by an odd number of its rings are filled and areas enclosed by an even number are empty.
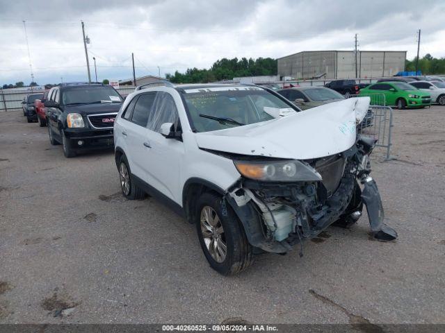
{"type": "MultiPolygon", "coordinates": [[[[357,76],[394,76],[405,70],[406,51],[357,51],[357,76]]],[[[278,75],[292,78],[355,78],[354,51],[303,51],[278,58],[278,75]],[[325,74],[325,76],[323,76],[325,74]]]]}

